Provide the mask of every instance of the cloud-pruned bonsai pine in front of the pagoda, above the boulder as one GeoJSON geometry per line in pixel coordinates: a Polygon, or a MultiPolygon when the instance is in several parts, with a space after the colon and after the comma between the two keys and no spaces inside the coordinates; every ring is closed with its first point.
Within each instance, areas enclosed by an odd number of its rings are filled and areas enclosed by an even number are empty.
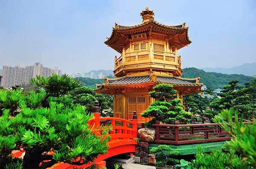
{"type": "Polygon", "coordinates": [[[180,124],[187,124],[193,118],[192,113],[186,112],[180,99],[177,99],[177,91],[172,85],[160,84],[154,87],[150,92],[150,97],[156,99],[147,110],[142,113],[143,117],[153,117],[146,125],[150,126],[155,121],[161,121],[165,124],[174,124],[179,121],[180,124]]]}

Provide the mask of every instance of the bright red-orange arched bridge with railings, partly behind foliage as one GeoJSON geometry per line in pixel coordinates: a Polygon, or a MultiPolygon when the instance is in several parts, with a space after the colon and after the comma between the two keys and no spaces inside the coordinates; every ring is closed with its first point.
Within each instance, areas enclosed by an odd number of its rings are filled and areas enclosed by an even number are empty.
{"type": "MultiPolygon", "coordinates": [[[[93,107],[94,112],[99,112],[98,107],[93,107]],[[96,108],[96,109],[95,109],[96,108]]],[[[113,118],[113,117],[100,117],[99,113],[93,113],[94,118],[92,118],[88,124],[89,127],[92,127],[92,130],[95,129],[97,126],[101,124],[111,124],[112,130],[110,132],[111,139],[108,141],[108,153],[103,155],[99,155],[95,160],[94,163],[97,166],[97,163],[100,165],[100,162],[105,160],[106,158],[113,157],[115,155],[135,152],[135,146],[138,144],[134,138],[137,138],[137,115],[134,112],[133,120],[129,121],[123,118],[113,118]]],[[[100,131],[93,131],[96,135],[100,135],[100,131]]],[[[22,152],[20,151],[13,151],[13,156],[20,157],[22,152]]],[[[48,153],[53,154],[53,153],[48,153]]],[[[52,167],[48,169],[73,169],[78,167],[87,168],[91,166],[92,163],[87,163],[82,166],[71,165],[68,163],[56,163],[52,167]]]]}

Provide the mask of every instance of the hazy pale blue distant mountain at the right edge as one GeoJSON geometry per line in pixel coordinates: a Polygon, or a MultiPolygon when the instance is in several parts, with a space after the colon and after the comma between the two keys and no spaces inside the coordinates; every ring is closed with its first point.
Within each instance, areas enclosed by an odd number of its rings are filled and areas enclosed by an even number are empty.
{"type": "Polygon", "coordinates": [[[226,74],[243,74],[247,76],[256,75],[256,62],[245,63],[241,66],[236,66],[233,68],[200,68],[206,72],[217,72],[226,74]]]}

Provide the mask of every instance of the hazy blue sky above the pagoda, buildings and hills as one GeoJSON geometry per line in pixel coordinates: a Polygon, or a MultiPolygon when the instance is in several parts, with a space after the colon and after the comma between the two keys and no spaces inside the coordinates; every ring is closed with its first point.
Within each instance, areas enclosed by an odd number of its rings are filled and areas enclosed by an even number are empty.
{"type": "Polygon", "coordinates": [[[114,23],[141,23],[146,6],[159,23],[189,26],[192,43],[178,51],[183,68],[256,62],[255,0],[0,0],[0,68],[113,69],[119,54],[103,42],[114,23]]]}

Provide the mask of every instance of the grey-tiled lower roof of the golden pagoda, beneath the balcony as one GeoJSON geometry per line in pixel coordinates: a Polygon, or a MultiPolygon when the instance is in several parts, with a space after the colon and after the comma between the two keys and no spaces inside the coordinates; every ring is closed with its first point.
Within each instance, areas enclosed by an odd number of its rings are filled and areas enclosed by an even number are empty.
{"type": "MultiPolygon", "coordinates": [[[[155,75],[153,75],[155,76],[155,75]]],[[[199,83],[199,77],[195,79],[185,79],[179,77],[170,77],[170,76],[125,76],[117,79],[108,79],[105,78],[105,84],[96,85],[94,91],[100,91],[104,87],[125,87],[131,85],[154,85],[154,84],[171,84],[173,86],[191,86],[191,87],[201,87],[203,84],[199,83]]]]}

